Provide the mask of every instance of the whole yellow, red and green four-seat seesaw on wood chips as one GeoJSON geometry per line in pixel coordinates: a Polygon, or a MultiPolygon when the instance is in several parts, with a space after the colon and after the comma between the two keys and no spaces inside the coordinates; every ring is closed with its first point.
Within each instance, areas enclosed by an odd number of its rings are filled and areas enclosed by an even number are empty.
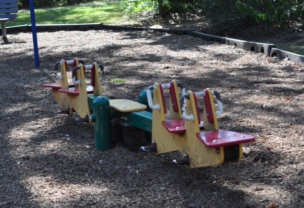
{"type": "Polygon", "coordinates": [[[128,99],[109,100],[101,95],[97,68],[103,70],[102,65],[77,65],[79,62],[74,59],[56,63],[61,66],[60,83],[44,86],[52,88],[58,105],[65,109],[59,111],[60,113],[72,116],[75,111],[81,117],[77,121],[94,123],[95,147],[98,150],[107,150],[113,145],[113,118],[123,118],[126,124],[151,133],[151,145],[142,146],[142,150],[155,151],[156,154],[180,151],[183,158],[174,160],[173,163],[185,165],[187,168],[240,161],[242,144],[255,140],[251,135],[218,128],[216,116],[222,113],[223,108],[217,91],[207,88],[202,92],[186,92],[182,83],[171,81],[167,84],[155,83],[148,87],[140,93],[139,102],[128,99]],[[66,79],[66,64],[73,64],[72,83],[68,83],[66,79]],[[85,69],[91,69],[89,86],[85,81],[85,69]],[[169,90],[170,95],[168,117],[165,89],[169,90]],[[197,101],[199,98],[204,102],[202,121],[197,101]]]}

